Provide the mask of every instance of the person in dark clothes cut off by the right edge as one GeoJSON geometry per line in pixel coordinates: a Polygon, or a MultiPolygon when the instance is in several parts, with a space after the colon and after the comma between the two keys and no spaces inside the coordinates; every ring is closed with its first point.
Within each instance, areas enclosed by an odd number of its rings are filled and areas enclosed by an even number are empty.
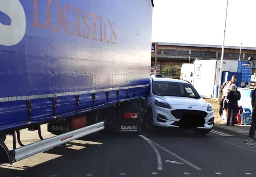
{"type": "Polygon", "coordinates": [[[255,135],[255,130],[256,130],[256,95],[255,94],[256,94],[256,88],[253,90],[253,95],[252,95],[252,107],[253,107],[252,125],[250,127],[249,136],[244,141],[245,143],[252,142],[253,137],[255,135]]]}

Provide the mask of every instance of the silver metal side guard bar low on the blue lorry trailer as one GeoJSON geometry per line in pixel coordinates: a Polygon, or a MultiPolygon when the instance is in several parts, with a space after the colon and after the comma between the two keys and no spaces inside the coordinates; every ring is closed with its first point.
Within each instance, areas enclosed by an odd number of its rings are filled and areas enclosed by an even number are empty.
{"type": "Polygon", "coordinates": [[[11,154],[14,156],[14,162],[17,162],[19,160],[33,156],[58,145],[65,144],[69,141],[100,131],[102,129],[104,129],[104,122],[99,122],[97,124],[89,125],[87,127],[83,127],[58,136],[54,136],[26,146],[19,147],[12,150],[11,154]]]}

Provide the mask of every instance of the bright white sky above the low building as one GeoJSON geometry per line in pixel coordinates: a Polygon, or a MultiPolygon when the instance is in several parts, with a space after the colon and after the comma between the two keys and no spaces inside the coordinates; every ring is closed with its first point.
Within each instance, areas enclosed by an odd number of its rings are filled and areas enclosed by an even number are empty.
{"type": "MultiPolygon", "coordinates": [[[[222,45],[227,0],[154,0],[152,41],[222,45]]],[[[229,0],[225,46],[256,47],[256,1],[229,0]]]]}

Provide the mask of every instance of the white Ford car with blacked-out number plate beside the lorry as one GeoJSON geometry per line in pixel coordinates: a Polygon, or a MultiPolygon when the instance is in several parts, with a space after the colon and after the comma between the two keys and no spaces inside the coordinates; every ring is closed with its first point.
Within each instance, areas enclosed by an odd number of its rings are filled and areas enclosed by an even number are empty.
{"type": "Polygon", "coordinates": [[[143,124],[192,129],[208,134],[214,124],[213,106],[186,81],[171,78],[151,78],[150,94],[144,99],[143,124]]]}

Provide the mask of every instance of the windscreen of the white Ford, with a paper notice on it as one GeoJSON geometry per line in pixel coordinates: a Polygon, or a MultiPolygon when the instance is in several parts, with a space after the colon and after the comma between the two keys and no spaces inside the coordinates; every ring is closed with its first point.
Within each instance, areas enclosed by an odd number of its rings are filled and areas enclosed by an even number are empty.
{"type": "Polygon", "coordinates": [[[182,96],[200,98],[196,89],[189,83],[154,81],[153,94],[159,96],[182,96]]]}

